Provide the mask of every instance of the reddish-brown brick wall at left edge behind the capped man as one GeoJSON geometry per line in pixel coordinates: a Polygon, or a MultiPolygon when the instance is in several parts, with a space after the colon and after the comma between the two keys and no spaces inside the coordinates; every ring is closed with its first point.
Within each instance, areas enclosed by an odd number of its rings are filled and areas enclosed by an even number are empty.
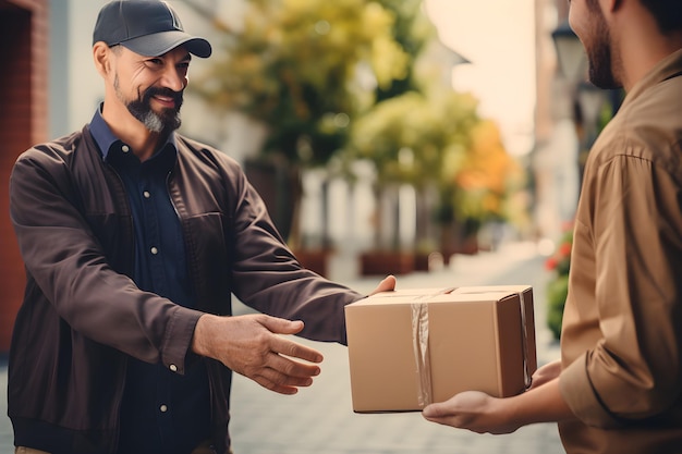
{"type": "Polygon", "coordinates": [[[19,155],[47,137],[48,0],[0,0],[0,352],[7,352],[25,274],[9,218],[19,155]]]}

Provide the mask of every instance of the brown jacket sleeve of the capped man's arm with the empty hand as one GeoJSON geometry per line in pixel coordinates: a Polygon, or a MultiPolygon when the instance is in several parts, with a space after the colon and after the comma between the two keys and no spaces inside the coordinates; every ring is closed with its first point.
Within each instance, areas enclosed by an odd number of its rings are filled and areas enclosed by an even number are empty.
{"type": "Polygon", "coordinates": [[[202,314],[143,292],[112,269],[78,209],[64,155],[58,146],[33,148],[10,177],[10,214],[29,282],[82,335],[183,373],[202,314]]]}

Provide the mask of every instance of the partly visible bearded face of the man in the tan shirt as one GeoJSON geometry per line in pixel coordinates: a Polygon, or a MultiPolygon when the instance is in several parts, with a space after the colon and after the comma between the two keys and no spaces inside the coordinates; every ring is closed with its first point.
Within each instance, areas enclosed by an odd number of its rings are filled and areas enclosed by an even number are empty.
{"type": "Polygon", "coordinates": [[[620,88],[617,77],[618,58],[613,54],[612,36],[598,0],[573,0],[569,15],[589,62],[589,81],[599,88],[620,88]]]}

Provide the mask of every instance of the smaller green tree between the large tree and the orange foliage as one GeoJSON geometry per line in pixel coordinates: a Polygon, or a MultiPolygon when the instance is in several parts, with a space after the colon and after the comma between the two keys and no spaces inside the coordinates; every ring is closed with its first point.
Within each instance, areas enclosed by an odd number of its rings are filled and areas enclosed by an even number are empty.
{"type": "MultiPolygon", "coordinates": [[[[409,91],[377,103],[357,120],[352,152],[376,169],[379,210],[386,191],[407,183],[415,187],[417,200],[435,191],[441,223],[454,220],[456,174],[471,146],[471,132],[479,121],[476,109],[477,101],[470,95],[450,90],[429,98],[409,91]]],[[[377,244],[395,246],[397,238],[380,237],[383,230],[377,225],[377,244]]],[[[418,237],[417,242],[426,240],[418,237]]]]}

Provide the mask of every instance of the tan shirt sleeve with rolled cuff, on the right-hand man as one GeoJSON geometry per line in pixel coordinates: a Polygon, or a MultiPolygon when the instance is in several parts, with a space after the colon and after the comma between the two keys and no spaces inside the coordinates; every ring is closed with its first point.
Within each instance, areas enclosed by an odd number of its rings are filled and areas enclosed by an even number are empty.
{"type": "Polygon", "coordinates": [[[585,424],[621,427],[680,396],[682,194],[673,173],[632,156],[605,162],[585,187],[601,338],[560,386],[585,424]]]}

